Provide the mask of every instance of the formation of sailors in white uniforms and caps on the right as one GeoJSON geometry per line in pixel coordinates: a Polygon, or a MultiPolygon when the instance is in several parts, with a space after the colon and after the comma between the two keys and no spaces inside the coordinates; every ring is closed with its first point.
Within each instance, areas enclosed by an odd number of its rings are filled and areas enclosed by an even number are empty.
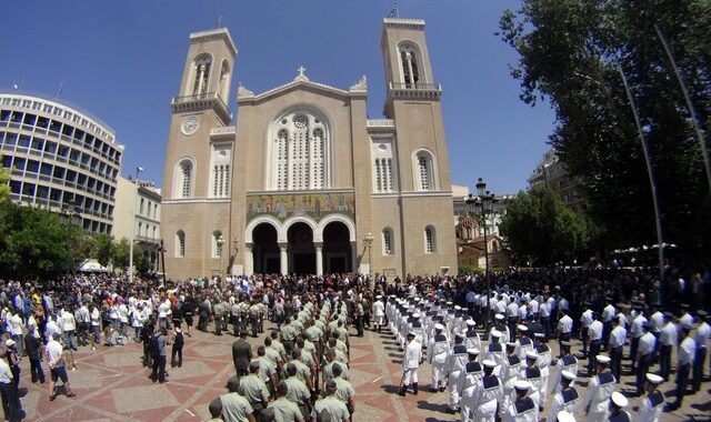
{"type": "Polygon", "coordinates": [[[404,353],[398,392],[419,393],[418,370],[427,360],[430,390],[447,391],[449,411],[461,421],[574,421],[581,413],[585,421],[658,421],[681,405],[690,374],[694,392],[703,379],[711,334],[703,310],[692,315],[687,307],[677,318],[607,298],[601,312],[584,303],[575,322],[560,293],[472,292],[470,305],[462,308],[437,294],[404,292],[378,297],[373,304],[373,314],[384,310],[381,324],[404,353]],[[488,310],[493,319],[484,330],[488,310]],[[573,333],[582,340],[582,360],[571,351],[573,333]],[[558,341],[558,355],[551,340],[558,341]],[[659,386],[670,376],[672,349],[677,391],[667,403],[659,386]],[[633,393],[619,390],[624,359],[635,375],[633,393]],[[580,376],[589,378],[585,389],[575,386],[580,376]],[[628,396],[640,398],[637,411],[628,396]]]}

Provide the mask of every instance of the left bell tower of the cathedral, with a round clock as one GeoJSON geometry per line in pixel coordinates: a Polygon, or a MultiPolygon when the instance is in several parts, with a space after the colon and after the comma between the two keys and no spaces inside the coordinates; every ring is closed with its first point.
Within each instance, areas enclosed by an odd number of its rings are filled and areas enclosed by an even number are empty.
{"type": "Polygon", "coordinates": [[[224,271],[216,241],[229,234],[226,199],[233,170],[234,131],[227,129],[237,48],[226,28],[194,32],[189,40],[171,101],[163,170],[161,230],[166,267],[174,275],[224,271]]]}

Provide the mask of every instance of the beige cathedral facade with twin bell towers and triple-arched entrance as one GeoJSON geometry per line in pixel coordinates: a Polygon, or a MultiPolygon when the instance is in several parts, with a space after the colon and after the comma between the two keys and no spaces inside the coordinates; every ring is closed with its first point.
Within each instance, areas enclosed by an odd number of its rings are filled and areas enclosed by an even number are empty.
{"type": "Polygon", "coordinates": [[[441,88],[424,21],[387,18],[384,119],[363,77],[309,80],[227,107],[237,48],[190,36],[166,153],[161,227],[173,279],[216,274],[457,272],[441,88]]]}

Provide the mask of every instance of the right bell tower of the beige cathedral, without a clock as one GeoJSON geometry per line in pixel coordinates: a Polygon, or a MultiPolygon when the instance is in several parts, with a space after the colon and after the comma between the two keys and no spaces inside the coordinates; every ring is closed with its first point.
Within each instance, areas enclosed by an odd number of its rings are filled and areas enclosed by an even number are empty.
{"type": "MultiPolygon", "coordinates": [[[[457,272],[453,205],[442,89],[434,79],[421,19],[385,18],[381,49],[394,124],[402,268],[412,273],[457,272]]],[[[395,229],[395,231],[398,231],[395,229]]]]}

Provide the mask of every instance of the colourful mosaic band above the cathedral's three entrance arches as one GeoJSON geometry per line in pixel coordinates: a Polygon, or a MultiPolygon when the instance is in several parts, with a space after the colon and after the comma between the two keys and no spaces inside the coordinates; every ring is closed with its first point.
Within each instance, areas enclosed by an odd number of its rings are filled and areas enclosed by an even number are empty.
{"type": "Polygon", "coordinates": [[[247,222],[260,215],[271,215],[282,222],[290,217],[309,217],[318,222],[333,213],[354,220],[356,199],[352,192],[247,194],[247,222]]]}

